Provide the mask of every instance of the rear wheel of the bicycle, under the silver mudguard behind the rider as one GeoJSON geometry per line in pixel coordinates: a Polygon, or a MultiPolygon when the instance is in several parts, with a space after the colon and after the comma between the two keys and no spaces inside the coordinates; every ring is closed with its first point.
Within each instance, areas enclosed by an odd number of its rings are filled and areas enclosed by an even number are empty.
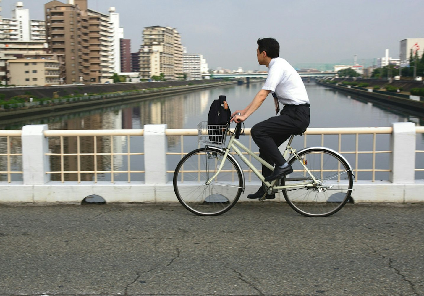
{"type": "Polygon", "coordinates": [[[306,149],[298,155],[300,161],[297,158],[289,161],[293,173],[281,180],[283,186],[295,186],[283,189],[287,203],[307,217],[326,217],[343,208],[353,188],[353,174],[347,161],[326,148],[306,149]],[[296,184],[299,186],[296,187],[296,184]]]}

